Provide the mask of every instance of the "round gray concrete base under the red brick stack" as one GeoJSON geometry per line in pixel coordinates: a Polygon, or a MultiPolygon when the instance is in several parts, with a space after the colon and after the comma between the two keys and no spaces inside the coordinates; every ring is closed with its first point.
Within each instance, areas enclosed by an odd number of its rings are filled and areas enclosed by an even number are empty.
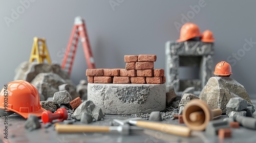
{"type": "Polygon", "coordinates": [[[105,114],[151,113],[165,109],[165,84],[88,83],[88,100],[105,114]]]}

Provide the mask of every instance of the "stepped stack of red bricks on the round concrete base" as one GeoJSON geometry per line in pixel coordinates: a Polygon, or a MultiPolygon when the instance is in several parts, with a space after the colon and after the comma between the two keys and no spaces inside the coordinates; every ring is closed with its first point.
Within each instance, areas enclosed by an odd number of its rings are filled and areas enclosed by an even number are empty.
{"type": "Polygon", "coordinates": [[[164,69],[154,69],[156,60],[156,55],[125,55],[125,69],[87,69],[86,76],[89,83],[162,84],[164,69]]]}

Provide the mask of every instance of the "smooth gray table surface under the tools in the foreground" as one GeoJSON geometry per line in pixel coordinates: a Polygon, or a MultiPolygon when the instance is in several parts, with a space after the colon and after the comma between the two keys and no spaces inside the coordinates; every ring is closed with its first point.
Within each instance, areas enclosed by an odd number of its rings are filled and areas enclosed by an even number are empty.
{"type": "MultiPolygon", "coordinates": [[[[253,100],[254,106],[256,100],[253,100]]],[[[105,115],[103,121],[90,123],[89,125],[109,126],[113,119],[125,119],[130,115],[105,115]]],[[[225,118],[225,115],[218,117],[225,118]]],[[[232,137],[220,140],[218,136],[207,136],[204,131],[193,131],[191,137],[181,137],[171,134],[165,134],[161,131],[144,130],[131,135],[121,135],[118,133],[57,133],[52,125],[45,128],[41,124],[41,128],[33,131],[25,129],[25,118],[19,115],[11,115],[8,117],[8,139],[4,139],[4,118],[0,118],[0,137],[3,142],[256,142],[256,130],[241,127],[239,129],[231,129],[232,137]]],[[[57,121],[54,121],[57,122],[57,121]]],[[[161,123],[179,124],[178,120],[165,120],[161,123]]],[[[75,124],[81,124],[75,122],[75,124]]],[[[1,142],[1,141],[0,141],[1,142]]]]}

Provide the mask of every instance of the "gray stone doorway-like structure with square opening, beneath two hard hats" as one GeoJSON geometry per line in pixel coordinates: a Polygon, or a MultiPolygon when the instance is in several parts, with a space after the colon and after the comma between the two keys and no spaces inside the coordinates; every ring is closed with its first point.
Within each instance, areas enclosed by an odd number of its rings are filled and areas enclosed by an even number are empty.
{"type": "Polygon", "coordinates": [[[213,76],[214,43],[201,41],[167,41],[165,44],[165,76],[166,84],[174,85],[175,91],[182,91],[194,86],[200,91],[208,79],[213,76]],[[183,57],[183,59],[180,58],[183,57]],[[180,80],[180,66],[199,67],[199,79],[180,80]]]}

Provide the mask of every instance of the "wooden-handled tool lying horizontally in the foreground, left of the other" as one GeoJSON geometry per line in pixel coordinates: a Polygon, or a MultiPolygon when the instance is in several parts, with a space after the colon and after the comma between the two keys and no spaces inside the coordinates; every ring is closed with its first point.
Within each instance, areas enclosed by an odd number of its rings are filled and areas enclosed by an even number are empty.
{"type": "Polygon", "coordinates": [[[129,135],[136,131],[142,131],[138,128],[132,128],[129,124],[121,126],[91,126],[91,125],[63,125],[57,124],[55,130],[58,133],[121,133],[123,135],[129,135]]]}

